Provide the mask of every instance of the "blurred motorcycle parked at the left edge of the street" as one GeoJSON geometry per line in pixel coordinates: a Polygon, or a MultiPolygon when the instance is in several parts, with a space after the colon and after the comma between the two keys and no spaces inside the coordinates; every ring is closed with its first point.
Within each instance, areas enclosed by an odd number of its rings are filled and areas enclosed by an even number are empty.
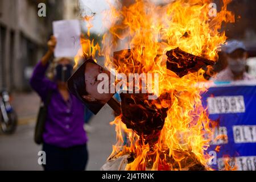
{"type": "Polygon", "coordinates": [[[0,127],[4,134],[13,134],[16,130],[18,117],[10,104],[10,96],[6,90],[0,93],[0,127]]]}

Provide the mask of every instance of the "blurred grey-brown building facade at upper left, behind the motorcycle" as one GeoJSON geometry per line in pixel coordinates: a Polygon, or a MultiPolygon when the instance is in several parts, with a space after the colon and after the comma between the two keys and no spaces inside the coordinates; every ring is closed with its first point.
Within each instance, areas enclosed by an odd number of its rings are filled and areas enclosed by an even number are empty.
{"type": "Polygon", "coordinates": [[[0,90],[30,90],[32,69],[46,52],[52,21],[75,18],[77,1],[0,0],[0,90]],[[46,17],[38,16],[39,3],[46,17]]]}

